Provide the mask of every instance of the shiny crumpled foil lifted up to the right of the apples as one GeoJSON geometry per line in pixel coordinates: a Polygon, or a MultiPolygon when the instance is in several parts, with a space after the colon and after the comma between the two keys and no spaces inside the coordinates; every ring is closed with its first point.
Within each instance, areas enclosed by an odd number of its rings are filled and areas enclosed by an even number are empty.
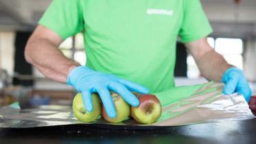
{"type": "Polygon", "coordinates": [[[209,82],[190,97],[163,107],[153,125],[187,125],[255,118],[242,95],[222,95],[223,85],[209,82]]]}

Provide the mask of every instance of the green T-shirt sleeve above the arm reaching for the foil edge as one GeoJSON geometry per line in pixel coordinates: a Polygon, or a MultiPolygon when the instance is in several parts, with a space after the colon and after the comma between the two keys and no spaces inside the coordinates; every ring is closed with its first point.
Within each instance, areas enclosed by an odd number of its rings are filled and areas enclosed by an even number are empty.
{"type": "Polygon", "coordinates": [[[180,27],[182,43],[189,43],[213,32],[200,0],[184,0],[184,17],[180,27]]]}

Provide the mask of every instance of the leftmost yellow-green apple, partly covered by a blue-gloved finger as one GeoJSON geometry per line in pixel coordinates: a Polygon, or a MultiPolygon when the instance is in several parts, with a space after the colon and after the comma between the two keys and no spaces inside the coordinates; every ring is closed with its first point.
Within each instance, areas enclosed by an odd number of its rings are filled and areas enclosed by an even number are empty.
{"type": "Polygon", "coordinates": [[[100,98],[96,93],[92,93],[92,104],[93,110],[92,112],[88,112],[85,110],[85,106],[83,105],[83,96],[81,93],[77,93],[73,100],[73,112],[74,116],[79,120],[85,123],[89,123],[91,121],[95,121],[101,112],[100,108],[100,98]]]}

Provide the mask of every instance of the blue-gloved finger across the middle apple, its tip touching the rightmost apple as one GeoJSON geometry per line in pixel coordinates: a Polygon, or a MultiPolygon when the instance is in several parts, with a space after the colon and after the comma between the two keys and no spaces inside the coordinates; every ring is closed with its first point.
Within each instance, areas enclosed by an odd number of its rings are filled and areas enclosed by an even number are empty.
{"type": "Polygon", "coordinates": [[[111,82],[109,84],[109,89],[118,93],[122,97],[122,99],[127,101],[127,103],[131,106],[137,107],[140,104],[138,98],[134,94],[132,94],[125,86],[119,84],[118,82],[111,82]]]}

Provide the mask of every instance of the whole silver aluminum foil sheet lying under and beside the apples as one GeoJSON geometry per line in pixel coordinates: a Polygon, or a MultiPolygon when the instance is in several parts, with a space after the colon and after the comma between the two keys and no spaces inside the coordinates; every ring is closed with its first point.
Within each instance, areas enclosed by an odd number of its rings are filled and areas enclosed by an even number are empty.
{"type": "MultiPolygon", "coordinates": [[[[74,117],[70,106],[40,106],[39,108],[22,110],[18,103],[14,103],[0,109],[0,128],[36,128],[78,123],[82,125],[125,125],[126,127],[142,128],[255,118],[242,95],[222,95],[223,84],[209,82],[195,87],[196,89],[191,95],[175,99],[175,101],[165,99],[162,96],[159,97],[162,103],[162,115],[156,123],[148,125],[137,123],[133,119],[122,123],[109,123],[103,119],[98,119],[92,123],[82,123],[74,117]]],[[[186,86],[180,91],[185,90],[186,86]]],[[[171,96],[169,95],[169,97],[171,96]]]]}

